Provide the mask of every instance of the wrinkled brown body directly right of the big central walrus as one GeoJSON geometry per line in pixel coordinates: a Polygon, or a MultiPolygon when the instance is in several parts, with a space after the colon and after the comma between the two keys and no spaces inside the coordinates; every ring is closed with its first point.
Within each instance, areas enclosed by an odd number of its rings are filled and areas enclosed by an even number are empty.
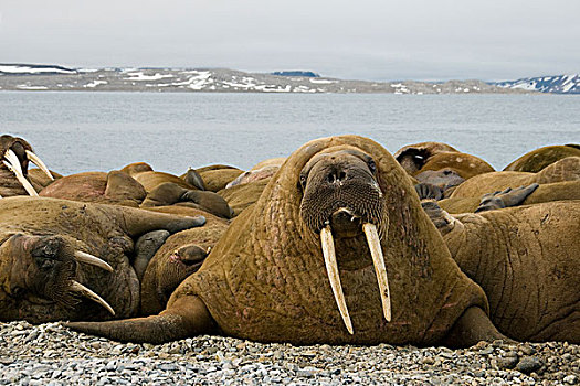
{"type": "Polygon", "coordinates": [[[580,201],[453,215],[442,233],[518,341],[580,343],[580,201]]]}

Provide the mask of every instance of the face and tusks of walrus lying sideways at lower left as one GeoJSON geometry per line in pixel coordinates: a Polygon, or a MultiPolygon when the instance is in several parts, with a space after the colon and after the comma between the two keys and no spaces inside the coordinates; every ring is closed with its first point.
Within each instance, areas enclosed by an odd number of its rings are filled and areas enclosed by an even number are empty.
{"type": "Polygon", "coordinates": [[[86,297],[114,314],[98,294],[75,280],[78,262],[113,270],[105,261],[74,250],[60,236],[11,235],[0,246],[0,276],[4,282],[0,289],[22,307],[55,303],[67,310],[80,297],[86,297]]]}

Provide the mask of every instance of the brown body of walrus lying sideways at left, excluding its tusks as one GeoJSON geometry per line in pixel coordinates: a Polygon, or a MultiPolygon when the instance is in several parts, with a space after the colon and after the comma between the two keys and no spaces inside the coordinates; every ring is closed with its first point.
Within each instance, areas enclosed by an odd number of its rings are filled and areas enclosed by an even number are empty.
{"type": "Polygon", "coordinates": [[[73,280],[103,298],[117,318],[139,307],[139,282],[129,262],[134,239],[202,225],[202,217],[49,197],[0,200],[0,321],[106,320],[110,313],[78,296],[73,280]],[[106,261],[106,270],[75,253],[106,261]]]}

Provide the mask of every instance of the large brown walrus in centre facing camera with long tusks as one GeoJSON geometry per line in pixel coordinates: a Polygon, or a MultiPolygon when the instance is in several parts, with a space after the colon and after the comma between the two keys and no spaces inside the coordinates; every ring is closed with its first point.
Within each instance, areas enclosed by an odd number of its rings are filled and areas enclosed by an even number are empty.
{"type": "Polygon", "coordinates": [[[154,343],[204,333],[294,344],[503,337],[405,171],[356,136],[294,152],[159,315],[68,326],[154,343]]]}

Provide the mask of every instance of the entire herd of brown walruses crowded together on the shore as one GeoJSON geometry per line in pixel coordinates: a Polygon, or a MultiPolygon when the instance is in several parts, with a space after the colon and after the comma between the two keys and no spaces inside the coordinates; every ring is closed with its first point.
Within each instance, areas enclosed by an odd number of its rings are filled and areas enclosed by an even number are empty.
{"type": "Polygon", "coordinates": [[[182,175],[62,176],[8,135],[0,157],[0,321],[150,343],[580,343],[578,144],[505,171],[358,136],[182,175]]]}

